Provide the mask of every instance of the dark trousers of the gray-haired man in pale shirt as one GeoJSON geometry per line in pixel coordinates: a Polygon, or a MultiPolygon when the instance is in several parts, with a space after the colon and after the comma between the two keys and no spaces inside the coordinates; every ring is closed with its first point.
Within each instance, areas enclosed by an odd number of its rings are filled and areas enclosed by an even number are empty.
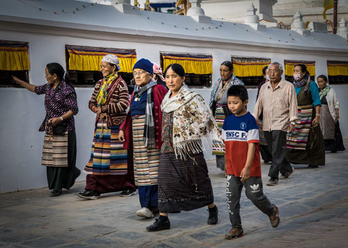
{"type": "Polygon", "coordinates": [[[272,154],[272,164],[269,167],[268,176],[277,178],[279,172],[291,172],[292,166],[285,158],[286,132],[281,130],[264,131],[269,151],[272,154]]]}

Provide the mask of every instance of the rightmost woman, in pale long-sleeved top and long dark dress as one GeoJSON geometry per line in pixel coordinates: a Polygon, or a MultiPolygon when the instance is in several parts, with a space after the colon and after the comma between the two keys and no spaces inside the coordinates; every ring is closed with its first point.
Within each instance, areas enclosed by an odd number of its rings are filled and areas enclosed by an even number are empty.
{"type": "Polygon", "coordinates": [[[322,102],[319,123],[324,136],[325,151],[331,151],[331,153],[345,151],[340,124],[338,124],[340,104],[335,90],[328,85],[325,75],[318,76],[317,83],[320,90],[320,101],[322,102]]]}

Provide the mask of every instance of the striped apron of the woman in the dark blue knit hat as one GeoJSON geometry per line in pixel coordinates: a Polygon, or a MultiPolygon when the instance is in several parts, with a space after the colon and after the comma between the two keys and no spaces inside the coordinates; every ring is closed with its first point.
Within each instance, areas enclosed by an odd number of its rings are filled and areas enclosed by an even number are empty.
{"type": "Polygon", "coordinates": [[[133,118],[133,158],[134,179],[137,186],[156,185],[160,149],[148,149],[144,146],[145,115],[133,118]]]}

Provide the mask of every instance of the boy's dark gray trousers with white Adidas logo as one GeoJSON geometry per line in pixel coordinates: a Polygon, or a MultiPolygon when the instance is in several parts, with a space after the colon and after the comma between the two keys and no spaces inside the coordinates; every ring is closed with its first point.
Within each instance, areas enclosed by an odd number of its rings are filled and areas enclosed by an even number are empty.
{"type": "Polygon", "coordinates": [[[261,177],[252,176],[244,182],[240,181],[240,179],[239,176],[227,176],[227,206],[232,228],[242,228],[242,222],[239,215],[239,201],[242,195],[243,186],[245,188],[246,197],[248,197],[248,199],[250,199],[251,202],[262,211],[262,213],[270,215],[273,213],[274,209],[274,205],[271,204],[269,199],[263,194],[261,177]]]}

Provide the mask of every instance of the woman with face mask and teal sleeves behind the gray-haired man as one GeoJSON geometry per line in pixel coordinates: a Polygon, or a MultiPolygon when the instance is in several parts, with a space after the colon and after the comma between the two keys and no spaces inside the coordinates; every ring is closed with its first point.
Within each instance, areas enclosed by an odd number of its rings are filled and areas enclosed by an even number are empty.
{"type": "MultiPolygon", "coordinates": [[[[286,156],[290,163],[317,168],[325,165],[324,138],[320,130],[320,102],[318,86],[310,80],[306,65],[294,66],[294,88],[297,95],[298,116],[295,130],[287,133],[286,156]]],[[[286,176],[280,176],[284,179],[286,176]]]]}

